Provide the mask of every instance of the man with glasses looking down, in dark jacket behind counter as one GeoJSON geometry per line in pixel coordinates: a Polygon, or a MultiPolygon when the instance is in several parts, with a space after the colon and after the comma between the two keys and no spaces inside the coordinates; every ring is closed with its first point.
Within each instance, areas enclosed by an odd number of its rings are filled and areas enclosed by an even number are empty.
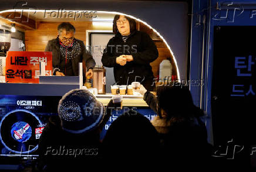
{"type": "Polygon", "coordinates": [[[86,77],[92,78],[95,60],[87,52],[82,40],[75,39],[76,29],[68,22],[58,26],[58,37],[49,40],[45,51],[52,51],[53,75],[78,76],[79,63],[86,63],[86,77]]]}

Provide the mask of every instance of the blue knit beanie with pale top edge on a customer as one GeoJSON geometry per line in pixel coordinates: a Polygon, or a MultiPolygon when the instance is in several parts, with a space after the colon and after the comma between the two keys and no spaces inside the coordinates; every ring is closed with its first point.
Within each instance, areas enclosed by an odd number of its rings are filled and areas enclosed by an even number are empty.
{"type": "Polygon", "coordinates": [[[75,89],[60,99],[58,113],[63,130],[85,133],[99,126],[105,115],[105,107],[89,91],[75,89]]]}

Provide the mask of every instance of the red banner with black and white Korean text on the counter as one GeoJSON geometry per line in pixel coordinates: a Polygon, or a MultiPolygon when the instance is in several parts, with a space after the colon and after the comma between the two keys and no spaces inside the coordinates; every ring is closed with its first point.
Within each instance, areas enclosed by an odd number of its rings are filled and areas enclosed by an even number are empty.
{"type": "Polygon", "coordinates": [[[52,52],[8,51],[5,82],[39,83],[40,62],[45,62],[45,75],[52,75],[52,52]]]}

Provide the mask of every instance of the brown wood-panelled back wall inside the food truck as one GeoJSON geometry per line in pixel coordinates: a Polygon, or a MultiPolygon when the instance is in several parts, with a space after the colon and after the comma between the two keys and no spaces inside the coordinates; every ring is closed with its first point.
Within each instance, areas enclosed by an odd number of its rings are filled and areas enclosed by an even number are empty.
{"type": "MultiPolygon", "coordinates": [[[[61,22],[40,22],[38,23],[36,30],[26,30],[25,32],[25,46],[26,51],[44,51],[48,40],[55,39],[57,36],[57,27],[61,22]]],[[[70,22],[73,26],[76,27],[76,35],[77,39],[86,41],[86,30],[112,30],[112,28],[104,28],[104,27],[94,27],[92,22],[70,22]]],[[[154,39],[154,43],[157,46],[159,51],[159,57],[150,63],[153,74],[156,77],[159,75],[159,64],[162,60],[167,59],[167,57],[171,56],[169,49],[163,40],[159,39],[156,36],[156,33],[153,33],[152,29],[149,29],[147,26],[142,23],[137,23],[137,28],[142,30],[143,32],[149,33],[152,39],[154,39]]],[[[173,61],[173,60],[172,60],[173,61]]],[[[172,62],[173,63],[173,62],[172,62]]],[[[173,64],[173,74],[176,73],[176,67],[173,64]]]]}

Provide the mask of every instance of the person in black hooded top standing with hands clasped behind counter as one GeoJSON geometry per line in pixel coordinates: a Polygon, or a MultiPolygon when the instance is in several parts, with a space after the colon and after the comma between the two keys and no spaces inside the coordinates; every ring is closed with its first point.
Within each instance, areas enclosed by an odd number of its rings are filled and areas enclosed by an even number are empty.
{"type": "Polygon", "coordinates": [[[123,15],[114,16],[112,39],[102,56],[105,67],[114,68],[114,80],[118,85],[138,81],[147,90],[153,90],[153,72],[150,63],[159,53],[147,33],[136,30],[134,19],[123,15]]]}

